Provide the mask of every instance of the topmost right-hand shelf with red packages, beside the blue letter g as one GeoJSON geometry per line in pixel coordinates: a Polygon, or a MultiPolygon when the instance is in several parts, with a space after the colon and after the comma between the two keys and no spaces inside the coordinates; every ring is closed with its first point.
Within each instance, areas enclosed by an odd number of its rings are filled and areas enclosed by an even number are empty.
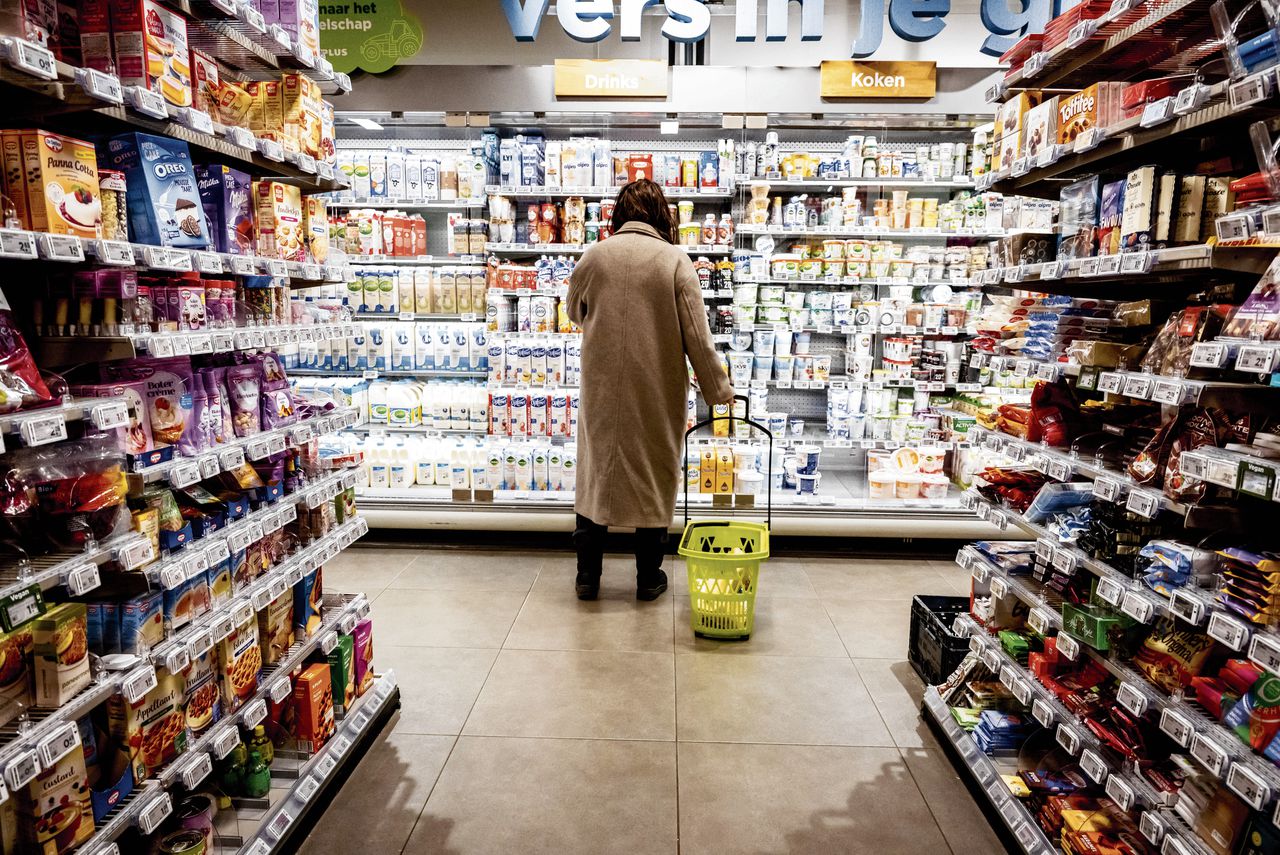
{"type": "Polygon", "coordinates": [[[1084,88],[1098,79],[1100,67],[1112,81],[1194,70],[1198,60],[1220,50],[1208,6],[1207,0],[1112,4],[1111,12],[1088,24],[1092,36],[1083,44],[1064,40],[1033,54],[1005,77],[1000,90],[1084,88]]]}

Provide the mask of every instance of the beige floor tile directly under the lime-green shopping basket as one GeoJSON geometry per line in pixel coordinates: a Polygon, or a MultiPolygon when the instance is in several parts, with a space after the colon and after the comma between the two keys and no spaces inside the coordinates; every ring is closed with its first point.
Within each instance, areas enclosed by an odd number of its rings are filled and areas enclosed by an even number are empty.
{"type": "Polygon", "coordinates": [[[690,626],[687,590],[676,596],[676,651],[722,655],[846,657],[840,635],[820,600],[760,596],[755,600],[751,637],[696,637],[690,626]]]}

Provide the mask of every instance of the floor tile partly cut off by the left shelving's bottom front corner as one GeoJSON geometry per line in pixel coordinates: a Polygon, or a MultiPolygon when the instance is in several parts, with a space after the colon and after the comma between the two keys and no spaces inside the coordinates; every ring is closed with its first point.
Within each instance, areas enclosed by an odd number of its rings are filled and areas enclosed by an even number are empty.
{"type": "Polygon", "coordinates": [[[462,732],[498,651],[379,644],[376,655],[379,669],[396,672],[403,696],[396,732],[456,735],[462,732]]]}

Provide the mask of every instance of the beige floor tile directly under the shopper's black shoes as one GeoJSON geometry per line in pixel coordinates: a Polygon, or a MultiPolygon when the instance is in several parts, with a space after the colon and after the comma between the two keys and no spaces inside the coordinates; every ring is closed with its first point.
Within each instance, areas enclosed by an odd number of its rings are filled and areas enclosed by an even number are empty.
{"type": "Polygon", "coordinates": [[[504,646],[671,653],[672,608],[667,599],[641,603],[635,595],[611,593],[582,602],[572,591],[530,594],[504,646]]]}

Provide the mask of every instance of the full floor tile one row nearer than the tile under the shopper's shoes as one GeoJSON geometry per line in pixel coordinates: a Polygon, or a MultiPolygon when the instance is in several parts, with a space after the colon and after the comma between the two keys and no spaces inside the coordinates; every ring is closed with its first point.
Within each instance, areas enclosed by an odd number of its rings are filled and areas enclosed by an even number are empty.
{"type": "Polygon", "coordinates": [[[503,650],[462,732],[673,740],[675,663],[663,653],[503,650]]]}

